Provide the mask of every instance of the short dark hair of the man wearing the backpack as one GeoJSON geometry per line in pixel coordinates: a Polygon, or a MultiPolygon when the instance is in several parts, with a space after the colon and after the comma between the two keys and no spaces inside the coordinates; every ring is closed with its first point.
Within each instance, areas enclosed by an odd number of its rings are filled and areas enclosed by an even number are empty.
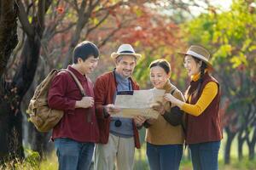
{"type": "Polygon", "coordinates": [[[73,49],[73,63],[77,64],[79,58],[83,60],[88,59],[90,55],[93,55],[94,58],[99,57],[99,49],[96,47],[96,45],[88,41],[80,42],[73,49]]]}

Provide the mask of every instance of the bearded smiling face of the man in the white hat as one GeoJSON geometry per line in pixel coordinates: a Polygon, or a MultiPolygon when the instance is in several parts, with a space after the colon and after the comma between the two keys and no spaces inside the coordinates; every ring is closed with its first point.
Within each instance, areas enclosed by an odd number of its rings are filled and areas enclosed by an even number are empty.
{"type": "Polygon", "coordinates": [[[136,65],[136,58],[132,55],[120,55],[116,59],[116,71],[125,78],[131,77],[136,65]]]}

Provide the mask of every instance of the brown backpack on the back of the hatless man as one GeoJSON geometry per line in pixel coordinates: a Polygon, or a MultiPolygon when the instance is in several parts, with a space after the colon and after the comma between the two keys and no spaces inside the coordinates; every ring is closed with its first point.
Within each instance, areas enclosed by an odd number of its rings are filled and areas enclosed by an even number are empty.
{"type": "MultiPolygon", "coordinates": [[[[85,96],[84,88],[73,72],[66,69],[62,69],[60,71],[69,72],[73,77],[73,80],[79,86],[81,94],[85,96]]],[[[55,125],[60,122],[61,117],[64,114],[64,111],[51,109],[48,105],[48,91],[50,84],[55,75],[60,71],[55,69],[50,71],[49,75],[44,78],[44,81],[38,85],[26,111],[30,116],[29,121],[31,121],[35,127],[37,127],[38,131],[42,133],[49,132],[49,130],[55,127],[55,125]]]]}

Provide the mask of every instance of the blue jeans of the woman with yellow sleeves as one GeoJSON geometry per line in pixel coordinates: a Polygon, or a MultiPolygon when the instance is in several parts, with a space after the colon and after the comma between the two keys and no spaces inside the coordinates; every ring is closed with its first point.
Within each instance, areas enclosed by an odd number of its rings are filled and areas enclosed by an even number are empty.
{"type": "Polygon", "coordinates": [[[194,170],[218,170],[220,141],[189,144],[194,170]]]}

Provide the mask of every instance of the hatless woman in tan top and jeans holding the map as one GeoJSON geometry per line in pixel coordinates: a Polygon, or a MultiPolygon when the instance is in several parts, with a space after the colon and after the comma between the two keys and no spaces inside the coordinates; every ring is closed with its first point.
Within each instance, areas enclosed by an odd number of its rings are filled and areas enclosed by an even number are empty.
{"type": "MultiPolygon", "coordinates": [[[[183,94],[169,81],[171,66],[166,59],[154,60],[150,66],[150,81],[154,88],[165,89],[183,101],[183,94]]],[[[151,170],[177,170],[183,156],[184,133],[179,124],[172,126],[168,122],[168,112],[174,107],[164,101],[155,105],[154,110],[160,112],[156,120],[145,122],[147,156],[151,170]]]]}

